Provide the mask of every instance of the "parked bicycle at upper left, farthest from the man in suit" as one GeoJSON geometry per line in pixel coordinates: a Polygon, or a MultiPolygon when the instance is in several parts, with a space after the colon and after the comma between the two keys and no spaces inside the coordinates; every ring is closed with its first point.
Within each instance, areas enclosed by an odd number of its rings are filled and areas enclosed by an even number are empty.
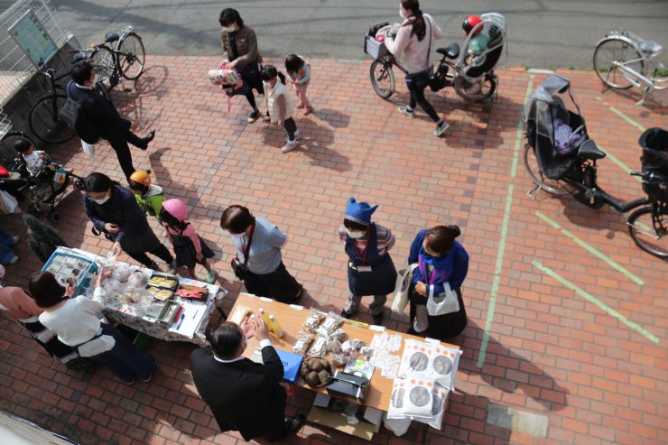
{"type": "Polygon", "coordinates": [[[107,32],[105,42],[92,43],[90,48],[70,52],[79,56],[75,56],[74,61],[90,61],[96,68],[98,78],[108,83],[109,89],[115,88],[121,78],[136,80],[144,73],[144,42],[129,25],[121,29],[120,34],[107,32]]]}

